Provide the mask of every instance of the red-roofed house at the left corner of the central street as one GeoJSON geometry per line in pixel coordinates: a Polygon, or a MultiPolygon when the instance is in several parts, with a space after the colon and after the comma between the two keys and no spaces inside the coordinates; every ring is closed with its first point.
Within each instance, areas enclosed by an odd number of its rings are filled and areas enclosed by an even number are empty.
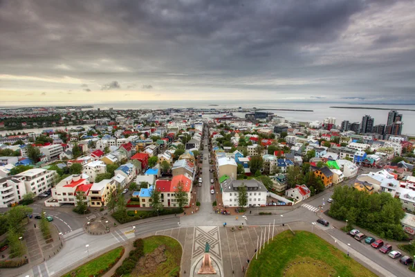
{"type": "Polygon", "coordinates": [[[189,206],[192,191],[192,181],[189,175],[177,175],[172,180],[157,180],[156,190],[160,192],[161,203],[164,207],[178,207],[175,193],[177,191],[178,184],[181,183],[183,191],[187,193],[187,203],[185,206],[189,206]]]}

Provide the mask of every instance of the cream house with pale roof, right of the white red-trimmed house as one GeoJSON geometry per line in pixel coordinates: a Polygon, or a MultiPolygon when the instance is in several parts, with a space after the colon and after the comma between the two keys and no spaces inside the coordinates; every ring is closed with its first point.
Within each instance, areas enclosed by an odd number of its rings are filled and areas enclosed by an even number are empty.
{"type": "Polygon", "coordinates": [[[104,179],[98,183],[94,183],[88,193],[89,206],[106,206],[109,195],[111,193],[115,194],[116,189],[116,180],[114,179],[104,179]]]}

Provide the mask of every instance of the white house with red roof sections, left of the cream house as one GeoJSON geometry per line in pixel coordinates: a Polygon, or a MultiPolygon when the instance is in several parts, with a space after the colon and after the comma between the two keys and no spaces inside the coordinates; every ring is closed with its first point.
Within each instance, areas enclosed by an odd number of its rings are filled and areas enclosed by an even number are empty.
{"type": "Polygon", "coordinates": [[[59,206],[62,204],[71,204],[75,206],[77,202],[77,190],[83,191],[85,193],[86,200],[86,195],[88,195],[88,191],[91,186],[92,184],[89,184],[88,181],[88,175],[70,175],[65,179],[62,179],[62,181],[59,181],[59,183],[54,188],[52,188],[51,196],[59,203],[59,206]],[[82,189],[80,188],[78,190],[79,186],[85,187],[82,187],[82,189]]]}

